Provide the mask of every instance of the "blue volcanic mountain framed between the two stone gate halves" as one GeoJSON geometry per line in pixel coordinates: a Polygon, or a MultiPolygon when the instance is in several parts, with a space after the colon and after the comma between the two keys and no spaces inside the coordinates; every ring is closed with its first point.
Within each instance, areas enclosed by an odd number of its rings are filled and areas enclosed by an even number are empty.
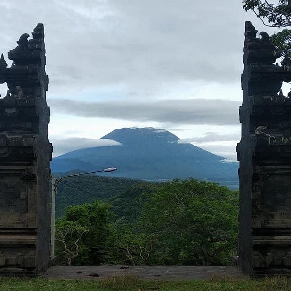
{"type": "Polygon", "coordinates": [[[102,146],[75,150],[53,158],[53,172],[94,171],[107,167],[118,170],[110,176],[133,179],[198,178],[237,185],[238,163],[224,162],[197,146],[179,143],[165,129],[122,128],[101,139],[118,141],[122,146],[102,146]]]}

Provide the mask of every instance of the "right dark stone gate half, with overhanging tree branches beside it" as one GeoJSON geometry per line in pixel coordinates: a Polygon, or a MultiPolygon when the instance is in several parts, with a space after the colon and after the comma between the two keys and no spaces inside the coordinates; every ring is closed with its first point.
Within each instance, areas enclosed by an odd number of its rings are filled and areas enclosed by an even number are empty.
{"type": "Polygon", "coordinates": [[[291,62],[266,32],[245,24],[240,161],[240,268],[252,276],[291,275],[291,62]],[[289,93],[288,95],[291,95],[289,93]]]}

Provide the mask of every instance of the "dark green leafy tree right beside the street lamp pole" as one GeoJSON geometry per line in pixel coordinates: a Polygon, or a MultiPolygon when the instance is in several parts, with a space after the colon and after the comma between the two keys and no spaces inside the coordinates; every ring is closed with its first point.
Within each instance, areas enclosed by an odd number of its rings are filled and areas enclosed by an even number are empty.
{"type": "Polygon", "coordinates": [[[74,264],[91,265],[104,261],[106,244],[111,236],[109,219],[112,213],[108,208],[108,204],[96,200],[93,203],[69,206],[66,209],[65,216],[56,223],[60,259],[64,257],[62,253],[68,257],[64,245],[70,245],[71,249],[74,249],[77,241],[77,255],[72,256],[74,264]]]}

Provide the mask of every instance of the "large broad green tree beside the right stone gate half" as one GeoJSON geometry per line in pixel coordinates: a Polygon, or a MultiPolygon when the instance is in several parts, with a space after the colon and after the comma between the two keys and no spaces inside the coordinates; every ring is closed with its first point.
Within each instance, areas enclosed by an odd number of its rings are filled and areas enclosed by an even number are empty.
{"type": "Polygon", "coordinates": [[[140,217],[155,237],[153,264],[226,264],[236,253],[238,193],[215,183],[174,180],[156,189],[140,217]]]}

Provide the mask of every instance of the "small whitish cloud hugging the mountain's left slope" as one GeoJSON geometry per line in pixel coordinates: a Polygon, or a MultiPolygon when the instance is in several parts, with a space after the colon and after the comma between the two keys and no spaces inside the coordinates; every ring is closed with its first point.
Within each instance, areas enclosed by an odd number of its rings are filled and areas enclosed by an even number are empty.
{"type": "Polygon", "coordinates": [[[110,139],[89,139],[89,138],[65,138],[65,139],[51,139],[53,143],[53,156],[57,157],[64,153],[89,147],[97,146],[121,146],[122,144],[110,139]]]}

